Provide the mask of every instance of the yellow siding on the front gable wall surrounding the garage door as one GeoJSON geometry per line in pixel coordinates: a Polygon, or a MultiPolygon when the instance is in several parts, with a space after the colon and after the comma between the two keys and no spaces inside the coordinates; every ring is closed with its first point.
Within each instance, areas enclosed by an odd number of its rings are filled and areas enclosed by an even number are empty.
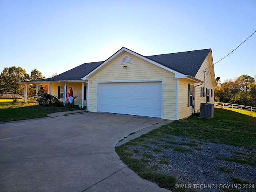
{"type": "Polygon", "coordinates": [[[163,80],[163,118],[176,120],[175,75],[141,58],[124,52],[89,77],[89,111],[97,111],[97,82],[100,81],[163,80]],[[124,55],[132,58],[132,64],[120,64],[124,55]]]}

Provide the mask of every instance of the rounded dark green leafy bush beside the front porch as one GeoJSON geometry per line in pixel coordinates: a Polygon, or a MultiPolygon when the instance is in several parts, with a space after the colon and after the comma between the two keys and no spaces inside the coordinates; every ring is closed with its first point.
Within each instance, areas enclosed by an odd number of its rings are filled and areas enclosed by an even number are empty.
{"type": "Polygon", "coordinates": [[[60,102],[56,96],[53,96],[53,95],[50,95],[50,94],[46,94],[46,93],[44,93],[44,94],[38,96],[38,98],[36,99],[36,101],[37,101],[40,105],[44,105],[44,106],[63,107],[63,103],[60,102]]]}

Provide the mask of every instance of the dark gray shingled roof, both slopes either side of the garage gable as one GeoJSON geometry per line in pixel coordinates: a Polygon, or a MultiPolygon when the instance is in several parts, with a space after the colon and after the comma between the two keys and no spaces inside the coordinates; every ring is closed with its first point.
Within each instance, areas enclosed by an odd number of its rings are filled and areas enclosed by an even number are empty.
{"type": "MultiPolygon", "coordinates": [[[[178,52],[162,55],[146,56],[146,58],[153,60],[163,66],[173,69],[185,75],[190,75],[192,77],[196,76],[199,68],[204,62],[206,56],[209,54],[211,49],[178,52]]],[[[33,80],[34,81],[60,81],[60,80],[80,80],[95,68],[100,66],[104,61],[84,63],[73,69],[70,69],[62,74],[59,74],[52,78],[33,80]]]]}

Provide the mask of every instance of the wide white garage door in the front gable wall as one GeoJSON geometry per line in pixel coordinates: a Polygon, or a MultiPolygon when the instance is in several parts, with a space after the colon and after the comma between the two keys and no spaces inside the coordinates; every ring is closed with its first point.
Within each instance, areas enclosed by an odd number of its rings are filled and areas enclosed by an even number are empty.
{"type": "Polygon", "coordinates": [[[162,82],[99,83],[98,111],[161,118],[162,82]]]}

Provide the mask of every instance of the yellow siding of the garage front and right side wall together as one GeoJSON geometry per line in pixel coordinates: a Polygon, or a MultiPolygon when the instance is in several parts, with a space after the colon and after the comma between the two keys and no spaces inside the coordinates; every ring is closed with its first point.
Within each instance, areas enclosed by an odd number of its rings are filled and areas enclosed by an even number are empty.
{"type": "MultiPolygon", "coordinates": [[[[200,70],[195,78],[205,82],[202,86],[213,90],[213,96],[210,95],[210,103],[214,102],[214,79],[213,68],[207,70],[204,78],[204,70],[206,70],[212,62],[208,62],[211,58],[211,52],[204,60],[200,70]],[[205,85],[204,85],[205,84],[205,85]]],[[[123,52],[122,54],[113,58],[110,62],[105,64],[102,68],[91,74],[89,77],[89,108],[91,112],[96,112],[97,109],[97,82],[128,82],[128,81],[143,81],[143,80],[162,80],[163,81],[163,118],[176,120],[177,118],[186,118],[190,116],[194,109],[192,106],[188,107],[188,84],[194,85],[195,95],[195,112],[200,109],[200,103],[206,102],[206,97],[200,97],[200,87],[198,83],[186,78],[175,78],[175,74],[164,70],[150,62],[147,62],[133,54],[123,52]],[[121,65],[120,60],[124,55],[132,58],[132,64],[121,65]],[[127,68],[123,68],[127,66],[127,68]],[[178,83],[177,83],[178,82],[178,83]],[[178,104],[177,104],[177,85],[178,85],[178,104]],[[178,107],[177,107],[178,105],[178,107]],[[178,108],[178,109],[177,109],[178,108]],[[178,114],[177,114],[178,111],[178,114]]]]}

